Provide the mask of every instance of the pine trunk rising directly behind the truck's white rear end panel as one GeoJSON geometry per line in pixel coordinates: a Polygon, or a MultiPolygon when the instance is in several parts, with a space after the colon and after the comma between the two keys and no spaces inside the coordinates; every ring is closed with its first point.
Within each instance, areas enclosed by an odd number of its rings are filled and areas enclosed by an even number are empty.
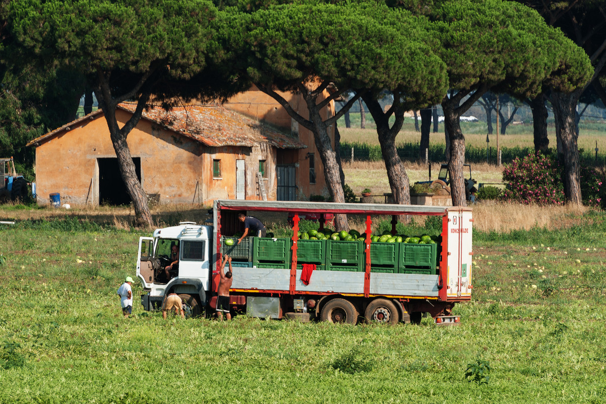
{"type": "MultiPolygon", "coordinates": [[[[461,132],[459,115],[454,112],[453,106],[442,102],[444,110],[444,127],[450,146],[448,158],[448,177],[450,177],[450,195],[453,206],[467,206],[465,195],[465,180],[463,178],[463,164],[465,164],[465,138],[461,132]]],[[[448,145],[447,145],[448,146],[448,145]]]]}

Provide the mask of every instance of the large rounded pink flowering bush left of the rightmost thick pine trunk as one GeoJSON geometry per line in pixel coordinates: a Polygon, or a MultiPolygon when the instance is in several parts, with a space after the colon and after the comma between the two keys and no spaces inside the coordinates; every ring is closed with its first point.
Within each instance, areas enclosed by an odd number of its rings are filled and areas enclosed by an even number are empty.
{"type": "Polygon", "coordinates": [[[530,153],[515,158],[503,169],[503,199],[525,204],[563,204],[561,172],[558,161],[549,156],[530,153]]]}

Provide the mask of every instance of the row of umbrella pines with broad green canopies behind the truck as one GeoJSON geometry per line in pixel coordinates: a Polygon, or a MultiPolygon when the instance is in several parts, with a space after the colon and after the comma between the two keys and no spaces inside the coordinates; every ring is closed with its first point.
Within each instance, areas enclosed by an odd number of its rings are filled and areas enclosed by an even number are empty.
{"type": "MultiPolygon", "coordinates": [[[[70,121],[81,95],[86,109],[94,92],[136,218],[149,225],[126,137],[150,104],[225,99],[254,84],[313,132],[330,197],[342,202],[339,134],[333,147],[328,128],[363,100],[396,203],[410,203],[395,144],[404,112],[421,110],[420,143],[428,144],[427,118],[439,104],[453,204],[465,206],[459,118],[476,101],[490,101],[482,96],[530,104],[535,149],[543,151],[550,101],[569,203],[582,202],[576,106],[588,88],[606,99],[606,18],[602,2],[592,0],[2,0],[0,15],[0,102],[14,111],[0,112],[0,147],[18,149],[22,139],[70,121]],[[308,115],[277,90],[300,94],[308,115]],[[393,99],[387,110],[385,93],[393,99]],[[126,100],[138,105],[119,127],[116,106],[126,100]],[[335,116],[322,117],[328,103],[342,100],[335,116]]],[[[347,228],[347,218],[336,226],[347,228]]]]}

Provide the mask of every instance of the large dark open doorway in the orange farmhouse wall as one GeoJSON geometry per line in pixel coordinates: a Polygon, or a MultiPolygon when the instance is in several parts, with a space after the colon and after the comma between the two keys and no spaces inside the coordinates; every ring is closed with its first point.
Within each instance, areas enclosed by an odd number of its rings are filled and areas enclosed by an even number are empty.
{"type": "MultiPolygon", "coordinates": [[[[98,158],[99,164],[99,204],[100,205],[127,205],[131,202],[122,181],[118,158],[98,158]]],[[[135,171],[139,183],[141,182],[141,158],[133,157],[135,171]]]]}

